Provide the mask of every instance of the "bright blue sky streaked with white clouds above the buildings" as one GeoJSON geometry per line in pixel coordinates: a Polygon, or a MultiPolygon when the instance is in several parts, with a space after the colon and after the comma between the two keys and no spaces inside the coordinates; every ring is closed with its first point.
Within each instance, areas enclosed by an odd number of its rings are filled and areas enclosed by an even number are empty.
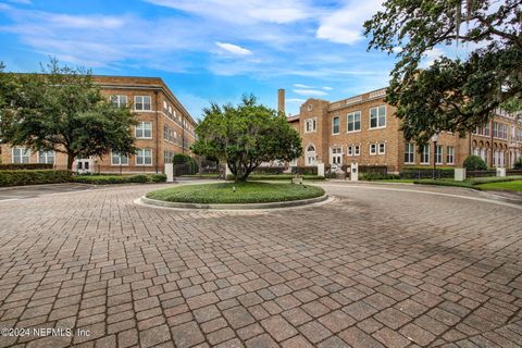
{"type": "Polygon", "coordinates": [[[95,74],[162,77],[195,116],[254,94],[287,112],[384,87],[394,57],[366,52],[380,0],[0,0],[0,61],[57,57],[95,74]]]}

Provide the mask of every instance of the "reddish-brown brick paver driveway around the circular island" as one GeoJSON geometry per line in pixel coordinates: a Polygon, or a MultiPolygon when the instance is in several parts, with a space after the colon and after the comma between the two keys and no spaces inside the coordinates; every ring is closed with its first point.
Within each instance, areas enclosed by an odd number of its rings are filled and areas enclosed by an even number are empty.
{"type": "Polygon", "coordinates": [[[0,202],[0,327],[30,328],[0,346],[522,346],[522,210],[326,186],[272,212],[136,206],[152,185],[0,202]]]}

